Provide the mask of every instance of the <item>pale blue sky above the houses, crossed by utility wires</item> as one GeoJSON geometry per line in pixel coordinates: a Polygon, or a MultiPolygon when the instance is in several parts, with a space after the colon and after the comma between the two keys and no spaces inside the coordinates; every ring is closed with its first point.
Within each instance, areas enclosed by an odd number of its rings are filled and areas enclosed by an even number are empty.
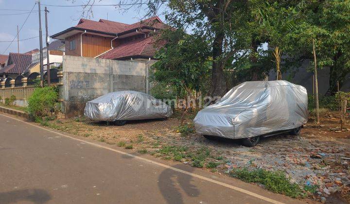
{"type": "MultiPolygon", "coordinates": [[[[10,45],[17,34],[17,25],[20,29],[25,19],[28,17],[30,10],[32,10],[37,0],[0,0],[0,54],[8,54],[9,52],[17,52],[17,37],[10,45]],[[6,9],[6,10],[4,10],[6,9]],[[15,9],[15,10],[9,10],[15,9]],[[24,10],[24,11],[23,11],[24,10]],[[10,47],[7,49],[7,47],[10,47]],[[7,49],[7,50],[6,50],[7,49]]],[[[40,0],[41,10],[44,10],[45,5],[82,5],[87,0],[40,0]]],[[[96,0],[95,4],[117,4],[120,0],[96,0]]],[[[59,33],[67,28],[75,26],[82,15],[82,7],[57,7],[47,6],[48,13],[48,29],[49,35],[59,33]]],[[[39,14],[38,5],[34,9],[26,23],[19,32],[19,40],[35,37],[33,39],[19,41],[19,52],[39,48],[39,14]]],[[[127,24],[132,24],[139,21],[143,17],[144,11],[137,12],[135,9],[130,9],[127,12],[116,9],[114,6],[95,6],[93,7],[92,20],[99,20],[100,18],[119,21],[127,24]]],[[[162,20],[164,17],[160,16],[162,20]]],[[[45,47],[45,13],[41,12],[41,26],[43,34],[43,47],[45,47]]]]}

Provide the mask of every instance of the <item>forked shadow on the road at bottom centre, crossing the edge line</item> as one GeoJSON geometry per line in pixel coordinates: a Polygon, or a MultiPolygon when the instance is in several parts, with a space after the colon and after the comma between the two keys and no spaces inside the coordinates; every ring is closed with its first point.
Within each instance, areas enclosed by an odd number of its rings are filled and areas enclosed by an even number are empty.
{"type": "MultiPolygon", "coordinates": [[[[181,165],[173,166],[176,169],[181,169],[181,165]]],[[[191,170],[192,168],[190,168],[191,170]]],[[[199,195],[199,189],[191,184],[192,176],[175,170],[166,169],[159,175],[158,187],[164,199],[168,204],[183,204],[184,200],[181,195],[181,189],[192,197],[199,195]]]]}

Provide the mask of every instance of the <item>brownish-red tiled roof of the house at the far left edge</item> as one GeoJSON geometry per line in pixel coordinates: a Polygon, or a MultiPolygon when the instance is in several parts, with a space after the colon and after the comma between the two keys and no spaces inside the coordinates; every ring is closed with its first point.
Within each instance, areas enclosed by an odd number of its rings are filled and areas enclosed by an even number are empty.
{"type": "Polygon", "coordinates": [[[0,69],[0,73],[21,74],[32,63],[32,55],[10,52],[8,63],[11,64],[0,69]]]}

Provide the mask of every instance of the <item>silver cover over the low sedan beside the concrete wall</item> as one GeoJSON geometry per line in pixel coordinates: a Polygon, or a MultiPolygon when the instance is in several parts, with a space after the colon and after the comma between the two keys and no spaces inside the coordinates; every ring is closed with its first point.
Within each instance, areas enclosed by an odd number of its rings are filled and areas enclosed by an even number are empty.
{"type": "Polygon", "coordinates": [[[84,115],[96,121],[168,118],[171,107],[154,97],[137,91],[107,93],[87,102],[84,115]]]}

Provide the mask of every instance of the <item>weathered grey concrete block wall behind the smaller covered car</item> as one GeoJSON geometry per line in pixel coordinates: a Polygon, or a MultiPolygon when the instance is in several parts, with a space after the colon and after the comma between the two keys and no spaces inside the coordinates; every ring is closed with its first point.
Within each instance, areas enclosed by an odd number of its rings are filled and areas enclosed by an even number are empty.
{"type": "Polygon", "coordinates": [[[118,61],[65,55],[60,99],[68,117],[82,115],[85,103],[112,91],[148,93],[146,62],[118,61]]]}

